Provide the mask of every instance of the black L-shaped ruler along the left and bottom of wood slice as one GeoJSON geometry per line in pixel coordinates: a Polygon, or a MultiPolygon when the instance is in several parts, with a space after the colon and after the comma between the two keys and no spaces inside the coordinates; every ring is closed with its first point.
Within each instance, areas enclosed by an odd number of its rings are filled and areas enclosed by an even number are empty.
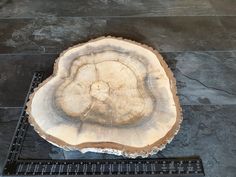
{"type": "MultiPolygon", "coordinates": [[[[25,103],[42,79],[42,72],[34,73],[25,103]]],[[[29,126],[25,106],[16,127],[3,175],[204,176],[202,161],[199,157],[89,160],[29,160],[19,158],[23,140],[29,126]]]]}

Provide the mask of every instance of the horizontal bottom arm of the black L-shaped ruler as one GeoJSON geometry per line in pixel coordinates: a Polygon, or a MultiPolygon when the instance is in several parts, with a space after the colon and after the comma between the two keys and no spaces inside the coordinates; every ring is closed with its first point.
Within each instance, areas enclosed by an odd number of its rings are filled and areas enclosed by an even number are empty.
{"type": "Polygon", "coordinates": [[[204,176],[199,158],[122,160],[23,160],[9,163],[6,175],[204,176]]]}

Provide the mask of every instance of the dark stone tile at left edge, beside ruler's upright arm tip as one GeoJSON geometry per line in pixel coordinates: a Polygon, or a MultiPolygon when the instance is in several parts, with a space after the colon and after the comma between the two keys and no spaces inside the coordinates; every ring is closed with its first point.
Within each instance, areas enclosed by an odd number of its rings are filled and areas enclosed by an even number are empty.
{"type": "Polygon", "coordinates": [[[0,107],[22,107],[34,71],[51,74],[56,55],[0,55],[0,107]]]}

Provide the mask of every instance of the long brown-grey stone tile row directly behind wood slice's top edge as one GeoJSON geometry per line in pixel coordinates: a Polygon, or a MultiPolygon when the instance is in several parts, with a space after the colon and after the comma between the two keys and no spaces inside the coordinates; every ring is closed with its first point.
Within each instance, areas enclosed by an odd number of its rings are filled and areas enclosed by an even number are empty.
{"type": "Polygon", "coordinates": [[[0,31],[0,52],[7,54],[60,53],[102,35],[133,39],[161,52],[236,49],[215,16],[0,19],[0,31]]]}

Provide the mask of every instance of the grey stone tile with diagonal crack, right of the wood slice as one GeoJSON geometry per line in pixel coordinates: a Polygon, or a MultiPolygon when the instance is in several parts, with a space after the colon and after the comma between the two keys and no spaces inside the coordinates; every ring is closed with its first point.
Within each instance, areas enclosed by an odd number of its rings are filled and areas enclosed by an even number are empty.
{"type": "Polygon", "coordinates": [[[181,104],[236,104],[235,52],[181,52],[167,58],[176,61],[181,104]]]}

